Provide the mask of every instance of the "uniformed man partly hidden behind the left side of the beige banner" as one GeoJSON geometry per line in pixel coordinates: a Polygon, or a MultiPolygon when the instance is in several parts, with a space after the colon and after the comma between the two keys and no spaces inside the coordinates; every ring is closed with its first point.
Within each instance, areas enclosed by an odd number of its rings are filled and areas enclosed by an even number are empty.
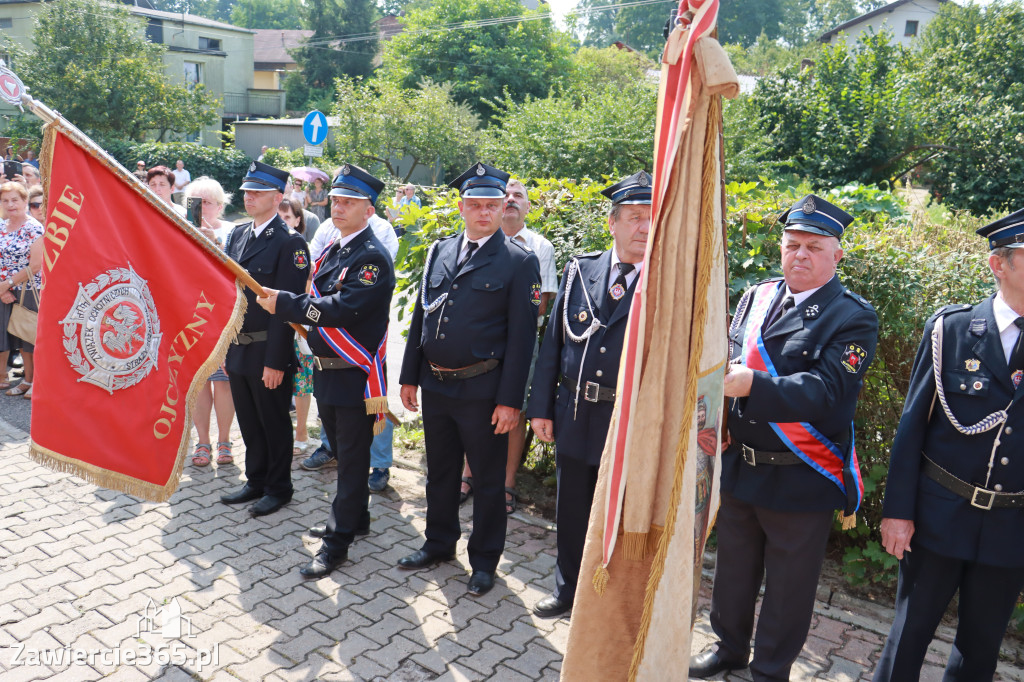
{"type": "Polygon", "coordinates": [[[534,606],[541,617],[572,608],[633,292],[650,228],[651,177],[640,171],[604,189],[614,246],[565,265],[534,371],[526,416],[555,441],[558,563],[555,592],[534,606]]]}

